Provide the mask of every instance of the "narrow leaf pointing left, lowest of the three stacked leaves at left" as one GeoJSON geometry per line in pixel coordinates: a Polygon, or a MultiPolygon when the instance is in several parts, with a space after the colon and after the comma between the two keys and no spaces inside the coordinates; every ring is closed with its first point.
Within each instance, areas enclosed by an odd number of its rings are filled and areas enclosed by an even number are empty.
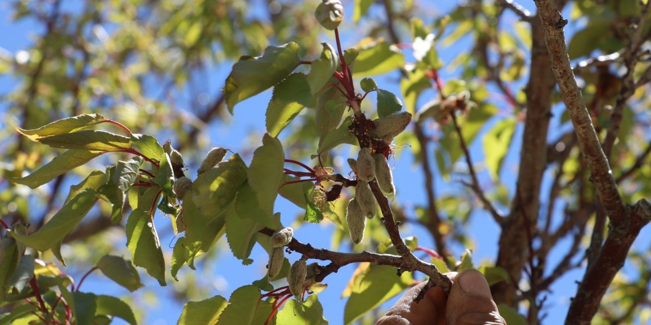
{"type": "Polygon", "coordinates": [[[38,168],[32,174],[22,178],[12,178],[10,181],[22,185],[27,185],[31,188],[40,187],[48,183],[55,177],[68,172],[72,168],[76,168],[89,162],[90,159],[102,155],[104,151],[92,151],[87,149],[70,149],[48,162],[41,168],[38,168]]]}

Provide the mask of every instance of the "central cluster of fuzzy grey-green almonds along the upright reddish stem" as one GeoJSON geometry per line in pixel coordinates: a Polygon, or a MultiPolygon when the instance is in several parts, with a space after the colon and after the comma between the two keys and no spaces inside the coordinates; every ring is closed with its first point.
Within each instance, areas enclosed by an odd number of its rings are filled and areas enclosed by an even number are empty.
{"type": "MultiPolygon", "coordinates": [[[[393,138],[400,134],[411,122],[409,112],[391,114],[374,120],[375,128],[370,132],[372,138],[383,140],[391,144],[393,138]]],[[[364,229],[367,218],[374,218],[377,208],[376,199],[368,183],[377,179],[382,192],[395,194],[393,174],[389,162],[382,153],[372,153],[370,148],[361,148],[357,160],[349,158],[350,169],[357,174],[355,197],[348,202],[346,209],[346,222],[350,231],[350,239],[359,244],[364,239],[364,229]]]]}

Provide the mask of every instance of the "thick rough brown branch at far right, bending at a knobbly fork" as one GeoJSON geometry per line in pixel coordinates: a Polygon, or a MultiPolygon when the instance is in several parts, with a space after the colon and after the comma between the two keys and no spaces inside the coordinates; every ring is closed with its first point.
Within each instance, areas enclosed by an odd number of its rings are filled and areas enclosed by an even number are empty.
{"type": "Polygon", "coordinates": [[[590,324],[603,294],[615,274],[624,266],[633,240],[651,219],[651,204],[646,200],[638,201],[633,207],[624,204],[607,157],[592,126],[581,90],[574,79],[563,32],[567,20],[562,18],[554,0],[538,0],[536,7],[545,31],[549,59],[561,90],[561,97],[577,133],[579,147],[588,163],[594,187],[611,222],[602,249],[579,284],[577,295],[572,300],[565,319],[566,324],[590,324]]]}

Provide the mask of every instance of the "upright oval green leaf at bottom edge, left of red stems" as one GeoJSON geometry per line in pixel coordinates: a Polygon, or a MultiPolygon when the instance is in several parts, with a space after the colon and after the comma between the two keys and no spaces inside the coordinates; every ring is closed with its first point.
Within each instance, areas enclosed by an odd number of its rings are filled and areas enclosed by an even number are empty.
{"type": "Polygon", "coordinates": [[[254,285],[239,287],[230,295],[229,305],[219,315],[217,325],[253,324],[253,316],[259,301],[260,289],[254,285]]]}

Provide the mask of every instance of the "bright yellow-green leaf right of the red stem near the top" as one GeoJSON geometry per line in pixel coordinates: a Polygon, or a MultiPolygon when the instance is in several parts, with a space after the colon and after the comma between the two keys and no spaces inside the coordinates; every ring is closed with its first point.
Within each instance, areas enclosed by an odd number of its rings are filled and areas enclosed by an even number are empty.
{"type": "Polygon", "coordinates": [[[380,75],[397,68],[402,68],[404,64],[404,55],[398,49],[391,47],[386,41],[381,41],[359,50],[359,55],[357,55],[357,60],[355,60],[353,75],[355,77],[380,75]]]}

